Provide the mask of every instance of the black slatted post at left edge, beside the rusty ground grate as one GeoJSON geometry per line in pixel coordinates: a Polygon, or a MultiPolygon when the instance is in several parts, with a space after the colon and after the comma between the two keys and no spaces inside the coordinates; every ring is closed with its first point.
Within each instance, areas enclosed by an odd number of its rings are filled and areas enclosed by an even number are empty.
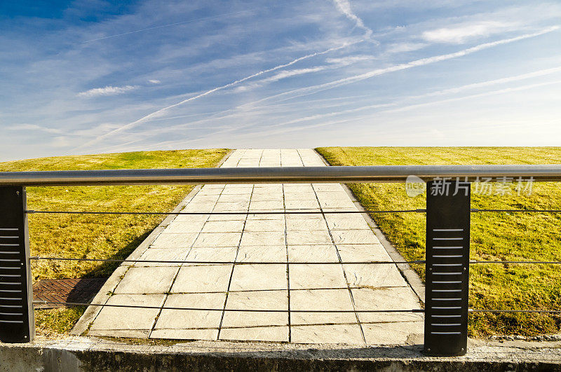
{"type": "Polygon", "coordinates": [[[35,333],[25,188],[0,186],[0,341],[27,343],[35,333]]]}

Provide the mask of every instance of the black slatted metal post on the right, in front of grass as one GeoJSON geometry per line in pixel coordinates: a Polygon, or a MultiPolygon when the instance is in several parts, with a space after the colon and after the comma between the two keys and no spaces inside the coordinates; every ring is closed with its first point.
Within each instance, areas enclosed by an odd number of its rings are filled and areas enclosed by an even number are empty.
{"type": "Polygon", "coordinates": [[[448,179],[427,183],[424,352],[466,354],[470,184],[448,179]]]}

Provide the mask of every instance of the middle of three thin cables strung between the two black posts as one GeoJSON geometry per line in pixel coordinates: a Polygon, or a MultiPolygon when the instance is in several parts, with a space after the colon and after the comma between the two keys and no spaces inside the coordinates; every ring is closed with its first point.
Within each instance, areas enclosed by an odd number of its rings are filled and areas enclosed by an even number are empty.
{"type": "MultiPolygon", "coordinates": [[[[190,263],[190,264],[213,264],[213,265],[285,265],[286,261],[282,262],[263,262],[263,261],[164,261],[164,260],[127,260],[127,259],[72,259],[65,257],[41,257],[41,256],[31,256],[30,260],[51,260],[51,261],[97,261],[97,262],[134,262],[134,263],[190,263]]],[[[425,263],[425,261],[349,261],[343,264],[349,265],[363,265],[363,264],[383,264],[383,263],[425,263]]],[[[288,265],[335,265],[340,264],[339,261],[331,262],[288,262],[288,265]]]]}

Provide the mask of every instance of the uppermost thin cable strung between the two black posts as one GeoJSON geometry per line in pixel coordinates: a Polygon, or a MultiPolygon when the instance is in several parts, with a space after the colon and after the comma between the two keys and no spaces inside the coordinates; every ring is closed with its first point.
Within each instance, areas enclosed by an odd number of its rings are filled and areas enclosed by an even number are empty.
{"type": "Polygon", "coordinates": [[[229,214],[353,214],[353,213],[425,213],[426,209],[400,209],[400,210],[378,210],[378,211],[306,211],[306,210],[286,210],[286,211],[278,211],[278,212],[259,212],[259,211],[243,211],[243,212],[90,212],[90,211],[34,211],[34,210],[27,210],[25,213],[27,214],[155,214],[155,215],[212,215],[212,214],[220,214],[220,215],[229,215],[229,214]]]}

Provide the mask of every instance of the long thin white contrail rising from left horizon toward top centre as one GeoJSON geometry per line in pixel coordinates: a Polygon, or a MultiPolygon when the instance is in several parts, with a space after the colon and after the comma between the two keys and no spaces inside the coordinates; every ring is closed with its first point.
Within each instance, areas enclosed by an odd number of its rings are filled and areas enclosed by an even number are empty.
{"type": "Polygon", "coordinates": [[[315,52],[315,53],[311,53],[311,54],[308,54],[308,55],[304,55],[303,57],[299,57],[299,58],[297,58],[297,59],[295,59],[295,60],[292,60],[292,61],[290,61],[290,62],[288,62],[288,63],[279,64],[278,66],[271,67],[270,69],[262,70],[262,71],[256,72],[255,74],[252,74],[252,75],[250,75],[250,76],[245,76],[245,78],[241,78],[241,79],[239,79],[239,80],[232,81],[231,83],[228,83],[228,84],[226,84],[226,85],[220,85],[219,87],[212,88],[211,90],[207,90],[206,92],[203,92],[203,93],[201,93],[201,94],[199,94],[199,95],[196,95],[196,96],[194,96],[194,97],[190,97],[190,98],[184,99],[184,100],[181,101],[181,102],[177,102],[176,104],[171,104],[170,106],[166,106],[166,107],[164,107],[163,109],[159,109],[159,110],[157,110],[157,111],[154,111],[154,112],[152,112],[152,113],[149,113],[149,114],[146,115],[146,116],[142,116],[142,118],[140,118],[140,119],[138,119],[138,120],[135,120],[135,121],[133,121],[133,122],[131,122],[131,123],[128,123],[128,124],[126,124],[126,125],[123,125],[122,127],[119,127],[119,128],[117,128],[117,129],[115,129],[115,130],[111,130],[111,132],[107,132],[107,133],[105,133],[104,135],[101,135],[101,136],[99,136],[99,137],[97,137],[97,138],[95,138],[95,139],[92,139],[91,141],[86,142],[86,144],[83,144],[83,145],[81,145],[81,146],[76,147],[76,149],[81,149],[81,148],[83,148],[83,147],[91,146],[92,144],[95,144],[95,143],[97,143],[97,142],[100,142],[102,139],[104,139],[104,138],[106,138],[106,137],[109,137],[109,136],[111,136],[111,135],[114,135],[114,134],[117,133],[117,132],[122,132],[123,130],[127,130],[127,129],[130,129],[130,128],[134,128],[137,124],[142,123],[142,122],[146,121],[146,120],[149,119],[149,118],[154,118],[154,116],[157,116],[159,113],[162,113],[162,112],[164,112],[164,111],[167,111],[168,109],[173,109],[173,107],[177,107],[177,106],[180,106],[180,105],[185,104],[185,103],[187,103],[187,102],[194,101],[195,99],[199,99],[199,98],[201,98],[201,97],[205,97],[206,95],[210,95],[211,93],[217,92],[218,90],[223,90],[223,89],[226,89],[226,88],[230,88],[230,87],[232,87],[232,86],[234,86],[234,85],[237,85],[237,84],[239,84],[239,83],[243,83],[244,81],[247,81],[247,80],[249,80],[250,78],[255,78],[255,77],[260,76],[260,75],[262,75],[262,74],[266,74],[266,73],[271,72],[271,71],[276,71],[276,70],[278,70],[278,69],[283,69],[284,67],[288,67],[288,66],[290,66],[290,65],[292,65],[292,64],[295,64],[295,63],[297,63],[297,62],[299,62],[299,61],[306,60],[306,59],[311,58],[311,57],[316,57],[316,56],[318,56],[318,55],[323,55],[323,54],[325,54],[325,53],[330,53],[330,52],[332,52],[332,51],[334,51],[334,50],[339,50],[339,49],[342,49],[342,48],[346,48],[347,46],[353,45],[353,44],[355,44],[355,43],[360,43],[361,41],[363,41],[363,40],[355,41],[355,42],[353,42],[353,43],[345,43],[345,44],[343,44],[342,46],[337,46],[337,47],[334,47],[334,48],[329,48],[329,49],[323,50],[323,51],[321,51],[321,52],[315,52]]]}

